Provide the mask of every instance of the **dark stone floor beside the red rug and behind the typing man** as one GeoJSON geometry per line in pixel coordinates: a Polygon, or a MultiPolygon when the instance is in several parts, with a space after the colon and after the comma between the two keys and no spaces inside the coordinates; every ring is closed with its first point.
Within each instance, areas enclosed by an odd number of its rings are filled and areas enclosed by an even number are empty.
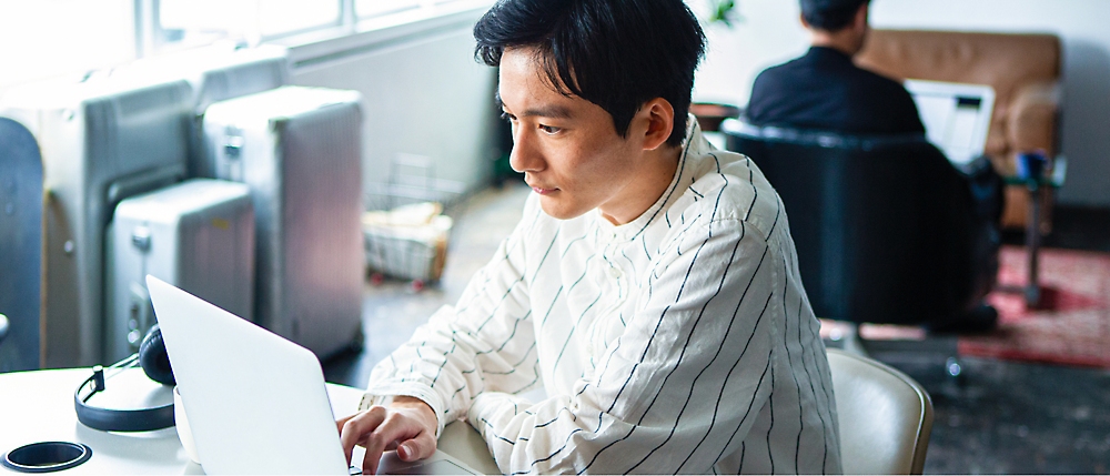
{"type": "MultiPolygon", "coordinates": [[[[528,189],[491,189],[447,211],[455,219],[443,278],[415,291],[405,281],[367,282],[365,345],[324,365],[329,382],[365,386],[370,369],[436,308],[453,303],[521,216],[528,189]]],[[[1058,209],[1050,246],[1110,251],[1110,211],[1058,209]]],[[[1020,243],[1020,233],[1008,234],[1020,243]]],[[[1107,345],[1110,345],[1108,343],[1107,345]]],[[[944,353],[882,348],[874,356],[932,396],[927,474],[1108,474],[1110,371],[965,358],[958,382],[944,353]]]]}

